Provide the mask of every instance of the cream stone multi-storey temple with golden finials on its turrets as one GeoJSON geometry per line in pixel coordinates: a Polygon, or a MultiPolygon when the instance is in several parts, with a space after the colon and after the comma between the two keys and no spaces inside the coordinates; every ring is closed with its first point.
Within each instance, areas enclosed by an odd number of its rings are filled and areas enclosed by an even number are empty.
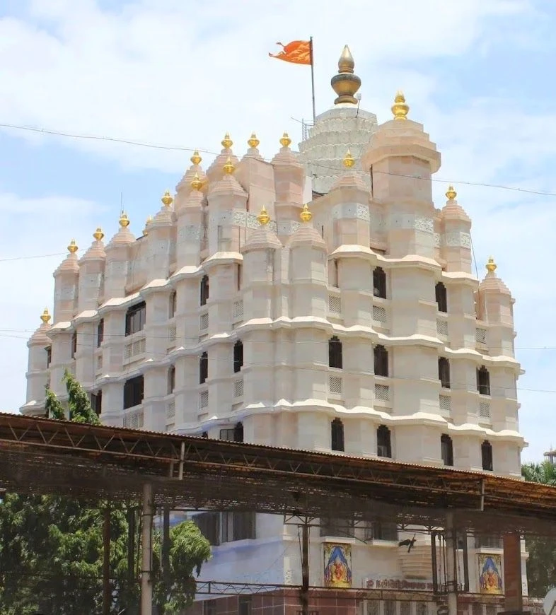
{"type": "MultiPolygon", "coordinates": [[[[347,48],[333,81],[342,100],[299,153],[284,134],[264,160],[253,135],[238,156],[226,134],[139,237],[130,212],[108,242],[100,229],[81,255],[71,242],[52,322],[45,310],[28,341],[23,414],[44,414],[47,383],[63,400],[69,369],[108,425],[521,476],[514,299],[492,259],[473,274],[453,187],[433,203],[441,156],[403,95],[383,124],[360,110],[347,48]]],[[[202,578],[301,581],[281,516],[196,518],[214,544],[202,578]]],[[[325,545],[342,544],[352,587],[427,587],[429,537],[398,546],[412,535],[320,520],[311,585],[325,585],[325,545]]],[[[497,561],[499,539],[468,538],[473,593],[482,554],[497,561]]]]}

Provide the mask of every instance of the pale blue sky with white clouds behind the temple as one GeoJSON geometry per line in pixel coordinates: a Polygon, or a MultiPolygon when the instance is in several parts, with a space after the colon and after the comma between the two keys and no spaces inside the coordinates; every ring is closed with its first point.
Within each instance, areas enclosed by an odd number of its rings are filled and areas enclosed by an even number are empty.
{"type": "MultiPolygon", "coordinates": [[[[322,112],[348,44],[361,106],[386,121],[405,91],[442,153],[436,206],[453,182],[480,276],[492,253],[516,298],[523,458],[540,459],[556,445],[556,197],[477,184],[556,192],[555,31],[550,0],[0,0],[0,124],[208,152],[230,131],[240,155],[256,131],[270,158],[284,130],[301,136],[291,118],[311,117],[311,91],[306,67],[267,52],[313,35],[322,112]]],[[[139,235],[189,156],[0,127],[0,409],[25,401],[25,341],[69,240],[110,238],[120,194],[139,235]],[[57,255],[2,260],[41,254],[57,255]]]]}

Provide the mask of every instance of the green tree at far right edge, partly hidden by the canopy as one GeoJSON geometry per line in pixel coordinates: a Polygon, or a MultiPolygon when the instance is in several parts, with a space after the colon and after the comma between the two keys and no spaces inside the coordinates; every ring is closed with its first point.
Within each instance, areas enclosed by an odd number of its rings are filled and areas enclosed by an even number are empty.
{"type": "MultiPolygon", "coordinates": [[[[546,459],[540,464],[528,463],[521,467],[526,481],[556,486],[556,468],[546,459]]],[[[527,582],[529,595],[543,598],[556,586],[556,540],[548,537],[526,537],[529,552],[527,582]]]]}

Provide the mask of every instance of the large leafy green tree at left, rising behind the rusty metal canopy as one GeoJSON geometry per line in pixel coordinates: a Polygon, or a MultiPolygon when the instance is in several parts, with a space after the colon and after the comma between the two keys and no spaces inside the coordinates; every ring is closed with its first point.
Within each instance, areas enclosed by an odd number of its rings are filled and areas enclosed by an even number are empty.
{"type": "MultiPolygon", "coordinates": [[[[64,375],[67,411],[47,387],[49,418],[97,424],[88,395],[71,373],[64,375]]],[[[40,468],[37,468],[40,472],[40,468]]],[[[137,504],[132,513],[137,516],[137,504]]],[[[103,517],[108,503],[59,496],[6,493],[0,500],[0,615],[100,613],[103,517]]],[[[139,595],[140,552],[128,570],[128,506],[110,508],[110,575],[113,614],[131,609],[139,595]]],[[[137,545],[138,534],[134,535],[137,545]]],[[[160,537],[154,540],[154,595],[161,612],[177,614],[195,596],[195,574],[210,558],[210,546],[190,521],[170,532],[170,574],[162,581],[160,537]]],[[[132,612],[132,611],[125,611],[132,612]]]]}

